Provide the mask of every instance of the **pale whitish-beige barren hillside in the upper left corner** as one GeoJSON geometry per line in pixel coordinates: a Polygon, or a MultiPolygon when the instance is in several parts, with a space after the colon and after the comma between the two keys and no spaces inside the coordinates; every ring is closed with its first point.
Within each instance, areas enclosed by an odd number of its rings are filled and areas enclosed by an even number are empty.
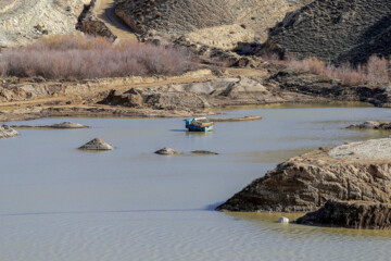
{"type": "Polygon", "coordinates": [[[0,0],[0,47],[24,45],[45,34],[75,30],[90,0],[0,0]]]}

